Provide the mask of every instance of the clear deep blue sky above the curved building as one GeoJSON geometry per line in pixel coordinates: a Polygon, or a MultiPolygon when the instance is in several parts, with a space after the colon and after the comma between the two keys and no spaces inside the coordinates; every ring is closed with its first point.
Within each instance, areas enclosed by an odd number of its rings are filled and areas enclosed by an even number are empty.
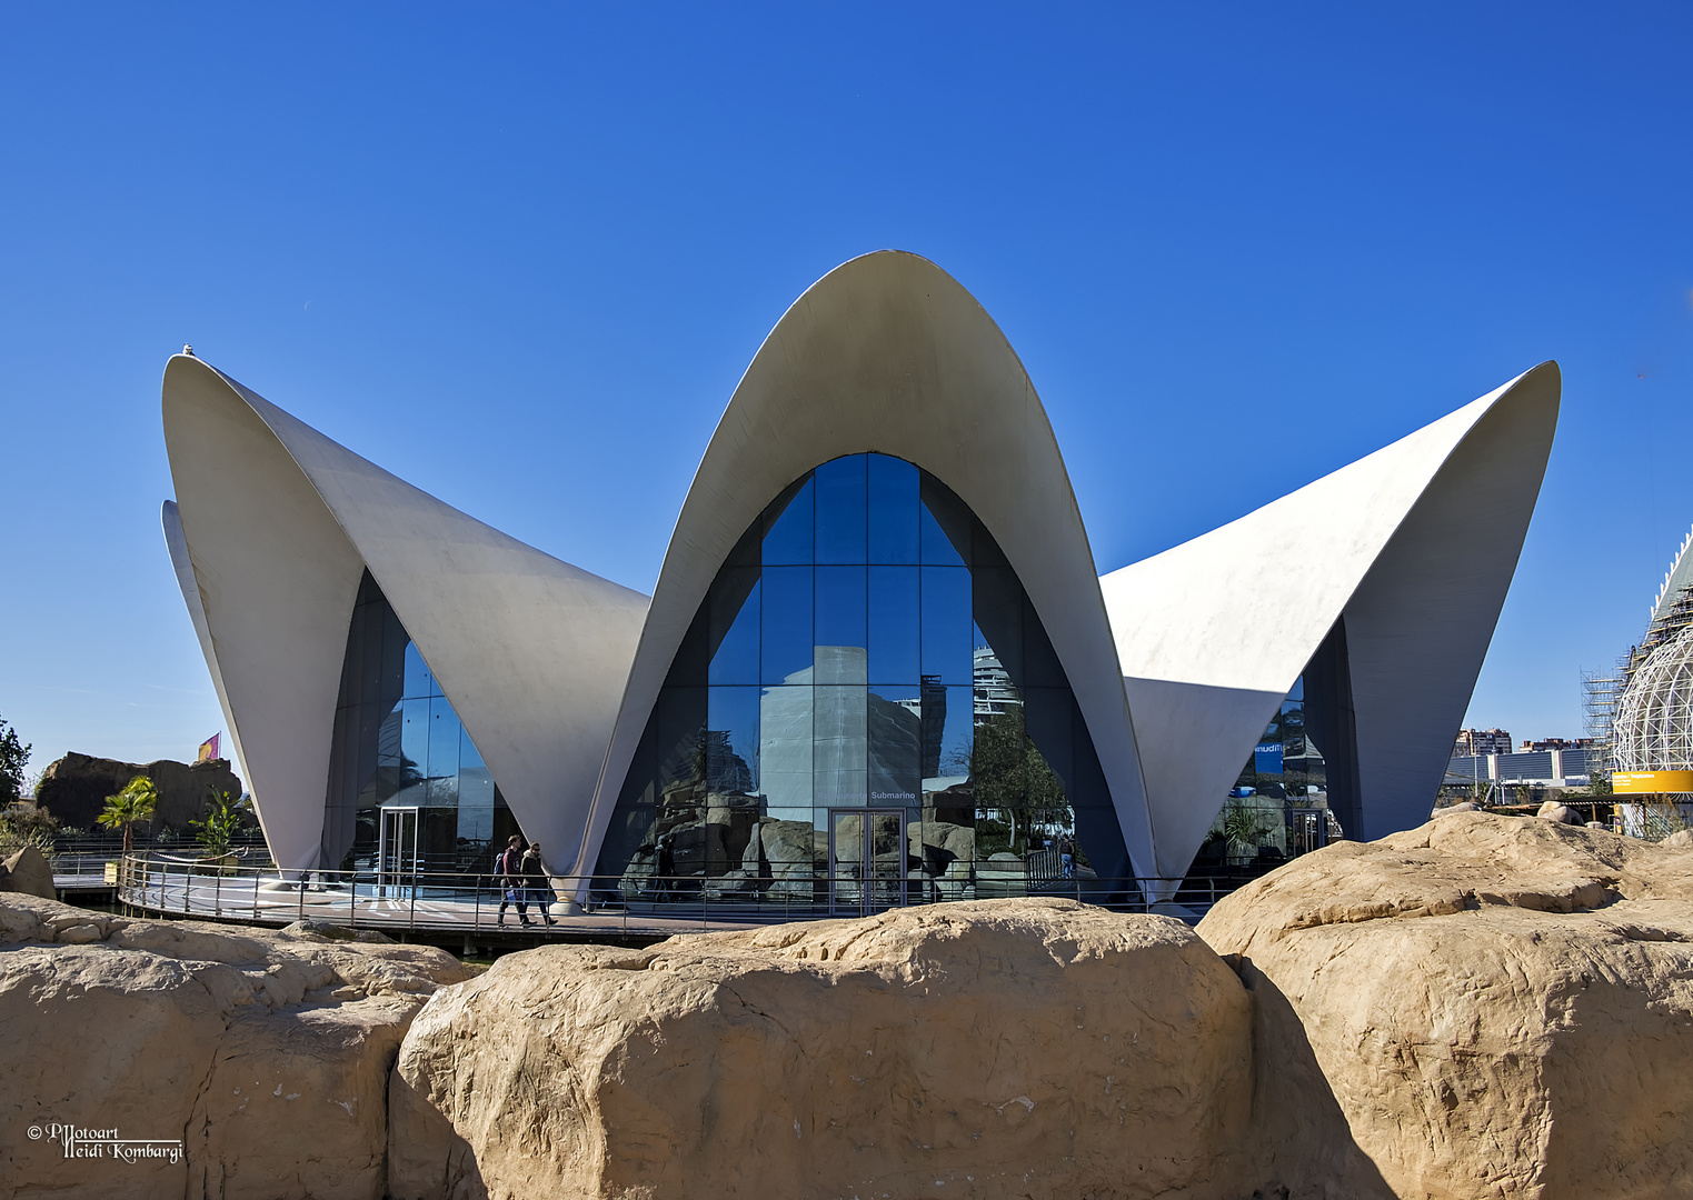
{"type": "Polygon", "coordinates": [[[1690,63],[1683,3],[10,5],[0,716],[32,767],[222,726],[183,342],[650,591],[760,339],[899,247],[1023,355],[1100,570],[1556,357],[1470,721],[1576,735],[1693,523],[1690,63]]]}

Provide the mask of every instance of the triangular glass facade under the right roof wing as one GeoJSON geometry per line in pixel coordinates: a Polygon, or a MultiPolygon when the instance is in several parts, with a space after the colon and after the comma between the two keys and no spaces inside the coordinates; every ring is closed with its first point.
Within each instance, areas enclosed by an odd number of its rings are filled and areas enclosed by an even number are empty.
{"type": "Polygon", "coordinates": [[[1195,868],[1275,867],[1359,828],[1358,735],[1346,621],[1282,701],[1200,848],[1195,868]]]}

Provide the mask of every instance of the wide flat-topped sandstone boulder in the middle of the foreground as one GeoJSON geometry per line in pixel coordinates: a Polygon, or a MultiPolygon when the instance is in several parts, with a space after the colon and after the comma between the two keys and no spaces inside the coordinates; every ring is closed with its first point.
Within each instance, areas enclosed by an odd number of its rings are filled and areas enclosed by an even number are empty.
{"type": "Polygon", "coordinates": [[[549,946],[413,1022],[389,1193],[1233,1200],[1249,1027],[1187,926],[1068,900],[549,946]]]}

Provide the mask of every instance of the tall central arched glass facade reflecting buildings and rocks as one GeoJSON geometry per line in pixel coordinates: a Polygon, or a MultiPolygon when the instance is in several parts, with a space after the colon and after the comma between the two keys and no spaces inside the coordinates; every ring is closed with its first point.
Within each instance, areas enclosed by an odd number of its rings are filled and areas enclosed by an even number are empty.
{"type": "Polygon", "coordinates": [[[596,868],[625,900],[835,909],[1129,875],[1094,743],[973,513],[858,454],[791,484],[701,603],[596,868]]]}

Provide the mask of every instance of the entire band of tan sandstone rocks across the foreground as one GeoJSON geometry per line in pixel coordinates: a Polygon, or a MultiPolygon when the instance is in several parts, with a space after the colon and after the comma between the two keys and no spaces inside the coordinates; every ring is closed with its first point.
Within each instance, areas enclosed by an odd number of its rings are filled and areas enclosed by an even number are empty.
{"type": "Polygon", "coordinates": [[[1197,933],[985,900],[469,980],[0,895],[0,1066],[3,1195],[1693,1195],[1693,848],[1464,812],[1197,933]]]}

